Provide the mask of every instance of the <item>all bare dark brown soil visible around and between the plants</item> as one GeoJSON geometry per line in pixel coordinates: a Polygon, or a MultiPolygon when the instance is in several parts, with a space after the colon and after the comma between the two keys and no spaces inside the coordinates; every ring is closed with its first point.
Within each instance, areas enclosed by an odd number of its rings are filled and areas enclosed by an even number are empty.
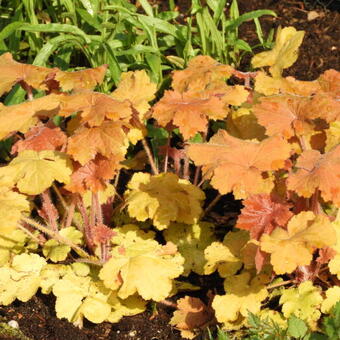
{"type": "MultiPolygon", "coordinates": [[[[167,4],[168,1],[154,1],[167,4]]],[[[340,14],[339,0],[239,0],[240,12],[248,12],[255,9],[272,9],[277,13],[277,18],[263,17],[261,24],[265,33],[271,28],[282,26],[294,26],[298,30],[306,31],[303,44],[300,48],[298,61],[285,75],[294,76],[301,80],[313,80],[330,68],[339,68],[339,36],[340,14]],[[328,4],[328,8],[320,6],[328,4]],[[318,17],[308,21],[308,13],[313,10],[318,17]]],[[[185,16],[190,7],[190,1],[176,1],[179,9],[185,16]]],[[[166,9],[165,7],[163,9],[166,9]]],[[[240,36],[251,46],[258,44],[255,27],[252,22],[245,23],[240,29],[240,36]]],[[[241,68],[249,68],[250,58],[245,58],[241,68]]],[[[239,204],[228,196],[220,202],[216,209],[210,213],[210,219],[229,224],[235,219],[239,210],[239,204]]],[[[224,224],[225,225],[225,224],[224,224]]],[[[207,289],[216,289],[214,277],[192,277],[193,283],[201,281],[207,289]],[[194,282],[196,281],[196,282],[194,282]],[[215,286],[214,286],[215,284],[215,286]]],[[[203,294],[202,294],[203,295],[203,294]]],[[[161,304],[156,305],[156,311],[151,309],[137,316],[125,317],[119,323],[102,323],[99,325],[85,322],[83,329],[74,327],[65,320],[56,318],[55,298],[53,295],[45,296],[37,294],[27,303],[16,301],[10,306],[0,306],[0,323],[16,320],[20,330],[30,340],[180,340],[179,332],[169,325],[173,309],[161,304]]],[[[1,324],[0,324],[1,326],[1,324]]],[[[25,339],[18,335],[1,335],[0,340],[25,339]]],[[[203,336],[201,337],[203,339],[203,336]]],[[[26,338],[27,339],[27,338],[26,338]]]]}

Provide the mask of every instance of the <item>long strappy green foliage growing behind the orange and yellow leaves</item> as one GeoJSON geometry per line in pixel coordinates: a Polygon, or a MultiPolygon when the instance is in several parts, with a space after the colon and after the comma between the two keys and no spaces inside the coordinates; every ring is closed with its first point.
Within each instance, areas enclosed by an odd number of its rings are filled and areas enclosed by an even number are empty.
{"type": "Polygon", "coordinates": [[[101,90],[110,91],[121,72],[147,69],[161,87],[164,74],[185,67],[204,54],[237,66],[252,47],[239,39],[239,26],[254,20],[259,44],[270,47],[259,17],[275,15],[259,10],[240,15],[233,0],[193,0],[186,22],[179,21],[174,1],[160,12],[147,0],[140,8],[128,0],[4,0],[0,1],[0,53],[17,60],[61,69],[109,65],[101,90]]]}

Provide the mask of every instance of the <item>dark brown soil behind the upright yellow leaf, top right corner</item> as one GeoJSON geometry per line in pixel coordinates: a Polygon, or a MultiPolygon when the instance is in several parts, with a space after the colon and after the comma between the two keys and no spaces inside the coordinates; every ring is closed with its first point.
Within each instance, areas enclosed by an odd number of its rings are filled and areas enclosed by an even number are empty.
{"type": "MultiPolygon", "coordinates": [[[[331,11],[317,3],[330,3],[330,1],[295,1],[295,0],[240,0],[238,1],[240,13],[256,9],[271,9],[277,18],[265,16],[261,18],[264,32],[278,26],[294,26],[297,30],[306,32],[299,50],[296,63],[284,72],[285,76],[293,76],[300,80],[314,80],[324,71],[340,66],[340,13],[331,11]],[[318,13],[314,20],[308,20],[308,13],[313,10],[318,13]]],[[[333,1],[331,8],[340,7],[339,1],[333,1]]],[[[241,26],[240,35],[250,46],[259,43],[253,22],[241,26]]],[[[244,58],[242,66],[249,66],[250,56],[244,58]]]]}

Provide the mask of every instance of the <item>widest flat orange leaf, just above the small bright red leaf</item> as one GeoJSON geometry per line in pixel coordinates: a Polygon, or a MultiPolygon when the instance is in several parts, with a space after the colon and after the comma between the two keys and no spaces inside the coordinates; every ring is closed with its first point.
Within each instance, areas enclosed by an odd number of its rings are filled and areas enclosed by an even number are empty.
{"type": "Polygon", "coordinates": [[[233,191],[240,199],[271,191],[272,179],[263,176],[284,167],[290,146],[279,136],[251,142],[219,130],[209,143],[191,144],[188,155],[221,194],[233,191]]]}

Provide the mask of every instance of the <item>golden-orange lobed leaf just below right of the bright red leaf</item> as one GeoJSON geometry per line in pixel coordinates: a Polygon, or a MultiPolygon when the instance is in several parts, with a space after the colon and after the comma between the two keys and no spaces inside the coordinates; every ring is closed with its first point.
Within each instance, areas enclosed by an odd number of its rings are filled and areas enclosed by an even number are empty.
{"type": "Polygon", "coordinates": [[[335,240],[335,230],[327,217],[303,211],[290,219],[287,230],[277,227],[270,235],[263,234],[260,246],[271,254],[276,274],[285,274],[297,266],[309,265],[315,248],[332,246],[335,240]]]}

